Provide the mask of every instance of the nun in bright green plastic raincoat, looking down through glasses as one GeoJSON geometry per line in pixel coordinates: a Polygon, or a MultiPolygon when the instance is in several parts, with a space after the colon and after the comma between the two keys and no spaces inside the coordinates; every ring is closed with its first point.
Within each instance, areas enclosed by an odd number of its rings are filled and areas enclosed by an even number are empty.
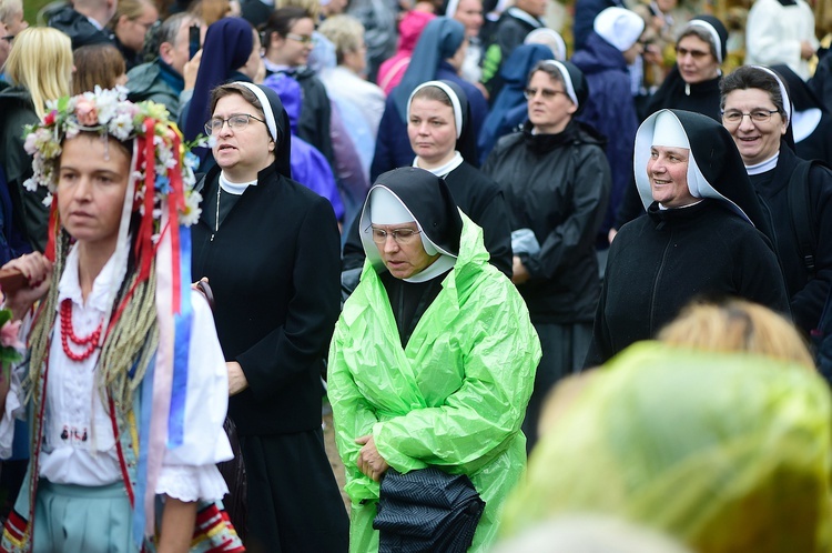
{"type": "Polygon", "coordinates": [[[418,168],[378,178],[367,255],[329,350],[329,400],[352,500],[351,551],[378,551],[378,481],[393,467],[466,474],[487,551],[526,464],[520,422],[540,346],[522,300],[488,264],[483,231],[418,168]]]}

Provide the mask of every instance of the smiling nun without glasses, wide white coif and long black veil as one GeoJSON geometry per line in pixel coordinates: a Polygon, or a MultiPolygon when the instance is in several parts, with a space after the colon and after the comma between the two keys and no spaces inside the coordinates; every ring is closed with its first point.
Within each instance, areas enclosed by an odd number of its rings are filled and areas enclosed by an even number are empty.
{"type": "Polygon", "coordinates": [[[636,133],[647,217],[612,242],[587,366],[655,336],[696,296],[730,295],[790,314],[773,234],[729,132],[661,110],[636,133]]]}

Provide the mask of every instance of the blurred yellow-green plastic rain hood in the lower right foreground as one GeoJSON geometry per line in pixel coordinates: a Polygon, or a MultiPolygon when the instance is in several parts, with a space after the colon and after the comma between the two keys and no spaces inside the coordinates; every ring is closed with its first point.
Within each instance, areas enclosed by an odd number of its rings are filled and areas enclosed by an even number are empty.
{"type": "Polygon", "coordinates": [[[830,393],[802,366],[640,343],[551,422],[506,505],[514,534],[620,516],[699,553],[830,551],[830,393]]]}

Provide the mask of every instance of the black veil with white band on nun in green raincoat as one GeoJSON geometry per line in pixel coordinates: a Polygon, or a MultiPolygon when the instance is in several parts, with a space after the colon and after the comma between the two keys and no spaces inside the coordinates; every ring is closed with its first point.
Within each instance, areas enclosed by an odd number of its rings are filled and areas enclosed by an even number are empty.
{"type": "Polygon", "coordinates": [[[437,250],[454,257],[459,254],[463,219],[445,180],[424,169],[403,167],[379,175],[364,201],[359,230],[364,251],[374,265],[381,264],[381,258],[369,230],[369,201],[377,188],[387,189],[404,204],[437,250]]]}

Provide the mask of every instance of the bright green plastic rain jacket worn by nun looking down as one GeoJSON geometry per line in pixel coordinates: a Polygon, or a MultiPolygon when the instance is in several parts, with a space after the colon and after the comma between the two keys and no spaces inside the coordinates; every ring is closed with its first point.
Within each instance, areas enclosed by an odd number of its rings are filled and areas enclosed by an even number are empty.
{"type": "Polygon", "coordinates": [[[503,502],[526,466],[520,423],[540,343],[515,286],[488,264],[481,229],[463,221],[456,265],[405,349],[371,262],[335,326],[329,401],[356,553],[378,550],[379,489],[356,465],[356,438],[372,434],[399,472],[432,465],[467,474],[486,502],[469,551],[494,542],[503,502]]]}

